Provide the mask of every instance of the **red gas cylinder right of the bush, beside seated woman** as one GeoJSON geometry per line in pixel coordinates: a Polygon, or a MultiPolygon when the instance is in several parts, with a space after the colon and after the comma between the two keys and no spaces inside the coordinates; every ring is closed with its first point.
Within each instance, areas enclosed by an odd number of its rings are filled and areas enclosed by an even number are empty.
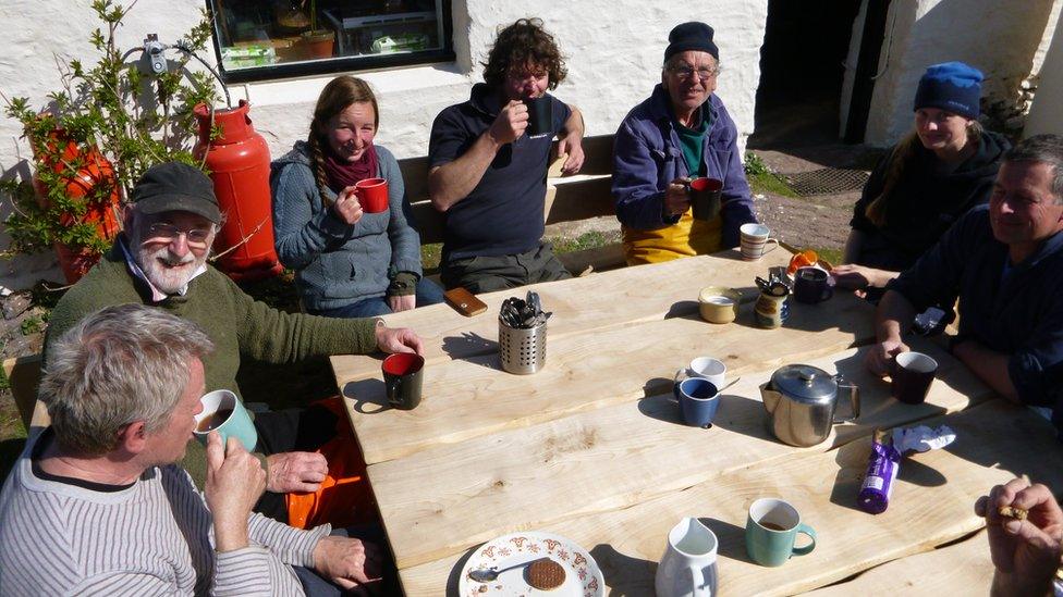
{"type": "Polygon", "coordinates": [[[273,250],[273,220],[270,211],[269,148],[255,132],[247,112],[251,105],[211,111],[200,103],[195,108],[199,140],[193,153],[206,154],[206,167],[215,183],[218,206],[225,223],[215,239],[221,256],[218,268],[236,281],[260,279],[283,270],[273,250]],[[210,127],[221,132],[211,140],[210,127]]]}

